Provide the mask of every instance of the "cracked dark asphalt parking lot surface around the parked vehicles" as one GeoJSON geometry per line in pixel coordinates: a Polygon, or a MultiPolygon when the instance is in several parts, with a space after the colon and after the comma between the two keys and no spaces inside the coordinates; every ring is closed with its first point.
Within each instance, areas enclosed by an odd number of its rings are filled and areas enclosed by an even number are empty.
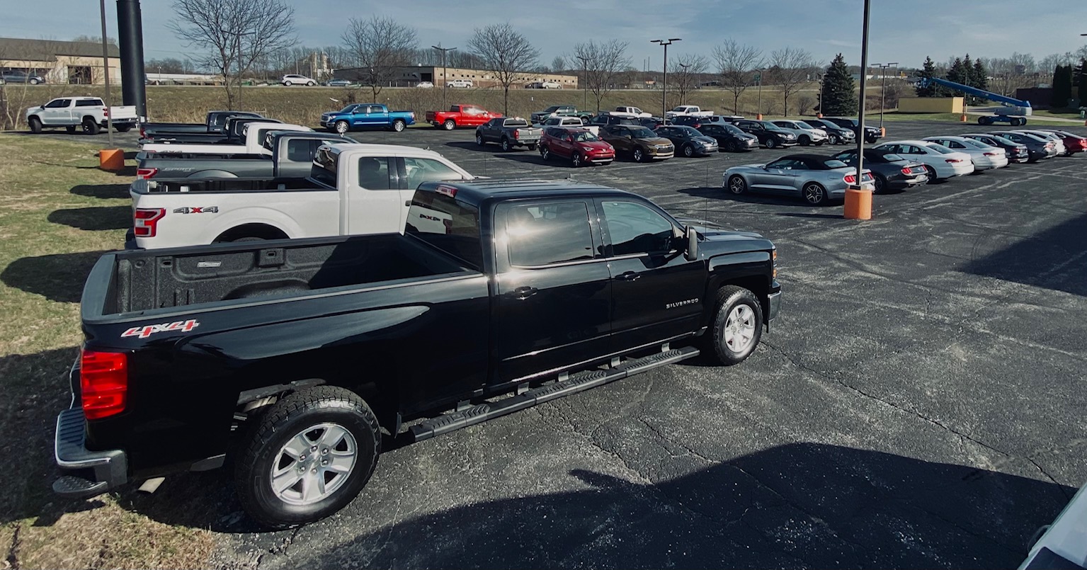
{"type": "Polygon", "coordinates": [[[782,314],[740,365],[688,361],[393,448],[351,505],[293,531],[251,532],[225,471],[134,497],[224,533],[223,567],[1008,568],[1087,481],[1087,157],[876,196],[858,222],[721,189],[725,168],[789,150],[575,170],[471,129],[353,136],[759,232],[782,314]]]}

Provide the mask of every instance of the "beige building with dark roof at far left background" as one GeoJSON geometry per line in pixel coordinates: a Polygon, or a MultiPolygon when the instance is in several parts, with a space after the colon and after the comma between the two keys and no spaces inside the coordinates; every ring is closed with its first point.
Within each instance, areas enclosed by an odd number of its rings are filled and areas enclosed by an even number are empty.
{"type": "MultiPolygon", "coordinates": [[[[110,83],[121,83],[121,50],[109,47],[110,83]]],[[[105,83],[102,45],[90,41],[0,38],[0,70],[25,71],[45,77],[46,83],[105,83]]]]}

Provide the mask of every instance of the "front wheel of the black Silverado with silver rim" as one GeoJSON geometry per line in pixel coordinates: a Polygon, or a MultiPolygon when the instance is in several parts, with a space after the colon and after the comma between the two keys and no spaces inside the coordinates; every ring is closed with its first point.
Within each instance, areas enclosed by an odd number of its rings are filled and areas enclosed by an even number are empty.
{"type": "Polygon", "coordinates": [[[713,320],[705,334],[708,355],[721,364],[733,365],[745,360],[762,338],[762,303],[744,287],[725,285],[717,289],[713,320]]]}

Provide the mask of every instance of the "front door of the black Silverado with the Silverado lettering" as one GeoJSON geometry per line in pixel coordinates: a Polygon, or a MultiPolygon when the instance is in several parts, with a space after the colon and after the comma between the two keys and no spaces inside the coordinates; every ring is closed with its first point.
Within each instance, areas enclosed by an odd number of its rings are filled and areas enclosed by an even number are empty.
{"type": "Polygon", "coordinates": [[[628,198],[598,199],[612,280],[612,349],[649,345],[698,329],[707,270],[687,261],[683,235],[661,212],[628,198]]]}

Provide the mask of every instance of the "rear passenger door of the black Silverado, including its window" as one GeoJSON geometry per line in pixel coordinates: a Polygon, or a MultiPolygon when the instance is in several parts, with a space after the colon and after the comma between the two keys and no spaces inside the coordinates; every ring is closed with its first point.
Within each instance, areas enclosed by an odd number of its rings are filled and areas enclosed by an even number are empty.
{"type": "Polygon", "coordinates": [[[611,286],[596,218],[588,199],[497,208],[496,383],[608,354],[611,286]]]}

